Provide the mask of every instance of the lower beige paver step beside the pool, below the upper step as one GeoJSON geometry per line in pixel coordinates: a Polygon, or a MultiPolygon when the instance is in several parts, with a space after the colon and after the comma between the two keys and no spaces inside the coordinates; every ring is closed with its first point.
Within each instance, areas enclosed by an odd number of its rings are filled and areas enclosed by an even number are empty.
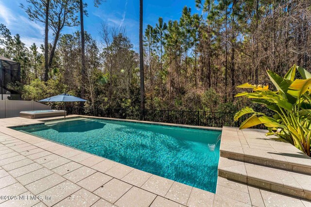
{"type": "Polygon", "coordinates": [[[218,176],[311,200],[311,175],[220,157],[218,176]]]}

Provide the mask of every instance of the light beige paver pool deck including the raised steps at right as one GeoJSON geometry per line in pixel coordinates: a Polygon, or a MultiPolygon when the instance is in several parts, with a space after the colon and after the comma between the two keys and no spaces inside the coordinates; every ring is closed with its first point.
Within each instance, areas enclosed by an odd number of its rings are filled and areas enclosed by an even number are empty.
{"type": "MultiPolygon", "coordinates": [[[[54,119],[59,118],[61,117],[54,119]]],[[[286,190],[291,187],[298,193],[304,190],[307,192],[311,186],[311,179],[304,179],[309,178],[306,176],[310,175],[306,175],[306,172],[301,172],[301,170],[309,166],[310,159],[304,156],[299,157],[298,155],[301,155],[299,150],[297,152],[296,148],[288,143],[280,143],[283,146],[277,149],[277,144],[274,146],[272,142],[269,143],[272,139],[262,137],[262,131],[223,128],[222,157],[219,163],[217,191],[214,194],[8,128],[39,124],[44,120],[52,120],[52,118],[0,119],[0,196],[11,196],[11,200],[0,200],[0,207],[311,206],[310,201],[297,198],[301,197],[300,194],[292,197],[286,195],[288,191],[281,194],[272,188],[272,186],[280,187],[282,183],[282,186],[287,187],[286,190]],[[261,143],[262,140],[269,143],[273,149],[261,143]],[[242,147],[242,151],[238,149],[239,147],[242,147]],[[249,149],[246,148],[251,148],[249,154],[247,153],[249,149]],[[280,152],[281,150],[284,152],[280,152]],[[262,157],[267,154],[262,151],[268,151],[269,155],[271,152],[282,153],[284,159],[275,158],[275,163],[280,165],[267,165],[268,162],[262,162],[262,160],[272,160],[274,163],[274,158],[262,157]],[[294,153],[298,153],[296,157],[289,156],[294,153]],[[304,159],[307,161],[303,161],[304,159]],[[300,163],[301,168],[293,167],[295,163],[300,163]],[[248,168],[248,166],[255,166],[255,169],[248,168]],[[282,168],[282,166],[285,167],[282,168]],[[269,167],[268,170],[279,170],[282,173],[286,171],[292,173],[291,175],[298,174],[297,176],[303,180],[303,182],[297,181],[302,191],[294,183],[292,177],[287,179],[279,173],[280,175],[275,178],[274,175],[278,171],[272,171],[273,173],[269,174],[268,171],[262,170],[264,167],[269,167]],[[267,176],[259,176],[262,172],[267,176]],[[257,182],[248,183],[247,180],[257,182]],[[262,186],[260,182],[266,182],[266,184],[262,186]],[[266,187],[267,184],[270,184],[269,187],[266,187]],[[24,197],[12,199],[12,196],[19,195],[24,195],[24,197]],[[32,197],[34,195],[37,199],[32,197]]]]}

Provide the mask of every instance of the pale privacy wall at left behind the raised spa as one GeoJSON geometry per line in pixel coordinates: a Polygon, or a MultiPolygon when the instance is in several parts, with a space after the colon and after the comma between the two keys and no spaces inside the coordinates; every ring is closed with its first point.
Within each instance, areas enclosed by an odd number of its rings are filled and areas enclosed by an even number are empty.
{"type": "Polygon", "coordinates": [[[47,106],[35,101],[0,100],[0,118],[19,116],[20,111],[51,110],[47,106]]]}

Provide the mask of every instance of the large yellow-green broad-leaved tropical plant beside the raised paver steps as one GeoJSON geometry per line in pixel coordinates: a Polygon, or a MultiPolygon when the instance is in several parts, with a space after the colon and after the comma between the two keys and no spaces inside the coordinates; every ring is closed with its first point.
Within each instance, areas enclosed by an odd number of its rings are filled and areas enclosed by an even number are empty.
{"type": "Polygon", "coordinates": [[[251,114],[240,126],[240,129],[254,127],[260,124],[268,127],[266,135],[276,135],[294,144],[302,152],[310,156],[311,142],[311,73],[302,67],[294,66],[284,78],[273,71],[267,71],[277,91],[269,90],[269,86],[242,84],[238,88],[252,89],[252,92],[242,92],[236,97],[252,98],[253,103],[259,103],[275,112],[269,117],[252,108],[245,107],[235,114],[238,120],[242,115],[251,114]],[[302,79],[295,79],[296,69],[302,79]]]}

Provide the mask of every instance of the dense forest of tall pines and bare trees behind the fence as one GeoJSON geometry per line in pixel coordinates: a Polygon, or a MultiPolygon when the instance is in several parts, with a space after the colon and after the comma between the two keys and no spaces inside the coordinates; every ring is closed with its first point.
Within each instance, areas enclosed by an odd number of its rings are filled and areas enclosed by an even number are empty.
{"type": "MultiPolygon", "coordinates": [[[[283,76],[293,64],[310,71],[310,0],[195,3],[196,8],[183,8],[179,20],[159,17],[144,31],[146,109],[236,112],[250,104],[234,97],[236,86],[273,87],[266,70],[283,76]]],[[[66,92],[89,100],[86,107],[139,108],[139,54],[126,29],[103,23],[99,41],[87,31],[63,33],[81,24],[80,6],[76,0],[21,5],[34,24],[47,23],[52,42],[46,45],[27,48],[0,24],[0,54],[21,65],[21,82],[9,87],[25,100],[66,92]]]]}

